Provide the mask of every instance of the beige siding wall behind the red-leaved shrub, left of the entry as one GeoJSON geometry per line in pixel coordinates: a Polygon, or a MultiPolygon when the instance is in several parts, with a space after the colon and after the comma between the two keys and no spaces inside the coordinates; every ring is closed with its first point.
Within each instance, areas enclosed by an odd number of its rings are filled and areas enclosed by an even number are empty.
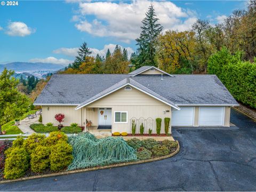
{"type": "Polygon", "coordinates": [[[79,126],[84,126],[83,110],[75,110],[75,107],[76,106],[42,106],[43,124],[53,123],[54,125],[58,125],[59,122],[56,121],[54,116],[62,113],[65,115],[64,122],[62,122],[64,126],[69,126],[71,123],[77,123],[79,126]]]}

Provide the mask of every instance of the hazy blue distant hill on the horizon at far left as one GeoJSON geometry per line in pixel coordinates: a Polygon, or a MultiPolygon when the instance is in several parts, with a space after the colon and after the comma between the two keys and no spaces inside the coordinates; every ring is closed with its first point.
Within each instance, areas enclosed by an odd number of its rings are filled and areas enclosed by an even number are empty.
{"type": "Polygon", "coordinates": [[[9,70],[14,70],[16,73],[31,71],[57,71],[64,68],[62,65],[53,63],[12,62],[0,65],[0,71],[3,71],[5,67],[9,70]]]}

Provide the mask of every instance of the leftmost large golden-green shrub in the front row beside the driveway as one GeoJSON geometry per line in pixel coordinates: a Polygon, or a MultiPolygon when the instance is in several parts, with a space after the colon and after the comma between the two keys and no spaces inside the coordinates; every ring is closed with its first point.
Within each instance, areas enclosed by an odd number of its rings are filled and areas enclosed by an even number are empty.
{"type": "Polygon", "coordinates": [[[29,154],[23,147],[9,148],[6,153],[4,178],[17,179],[22,177],[29,167],[29,154]]]}

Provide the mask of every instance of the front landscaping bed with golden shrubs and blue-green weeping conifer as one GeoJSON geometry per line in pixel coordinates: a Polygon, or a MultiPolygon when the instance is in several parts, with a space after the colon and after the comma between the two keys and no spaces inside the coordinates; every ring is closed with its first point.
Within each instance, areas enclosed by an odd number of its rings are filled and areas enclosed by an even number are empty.
{"type": "Polygon", "coordinates": [[[178,142],[170,140],[97,139],[90,133],[67,138],[59,131],[50,133],[48,138],[33,134],[26,140],[18,138],[13,141],[12,148],[5,149],[7,167],[1,170],[0,180],[31,179],[150,162],[170,157],[178,153],[178,149],[178,142]]]}

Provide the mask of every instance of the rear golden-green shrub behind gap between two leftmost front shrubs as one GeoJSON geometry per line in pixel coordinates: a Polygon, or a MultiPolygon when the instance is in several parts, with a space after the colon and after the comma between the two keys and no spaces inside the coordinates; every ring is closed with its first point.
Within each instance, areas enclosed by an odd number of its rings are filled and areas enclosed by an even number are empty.
{"type": "Polygon", "coordinates": [[[23,147],[27,150],[28,154],[33,153],[35,148],[39,145],[42,145],[45,140],[45,135],[44,134],[31,134],[24,142],[23,142],[23,147]]]}

